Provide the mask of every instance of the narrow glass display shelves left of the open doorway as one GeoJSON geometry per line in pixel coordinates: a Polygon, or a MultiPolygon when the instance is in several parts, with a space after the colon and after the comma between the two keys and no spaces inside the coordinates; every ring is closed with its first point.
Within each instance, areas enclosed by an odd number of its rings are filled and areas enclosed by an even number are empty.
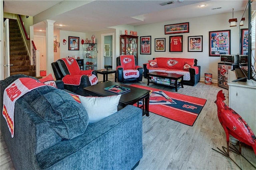
{"type": "Polygon", "coordinates": [[[84,43],[84,63],[86,70],[97,69],[97,44],[84,43]]]}

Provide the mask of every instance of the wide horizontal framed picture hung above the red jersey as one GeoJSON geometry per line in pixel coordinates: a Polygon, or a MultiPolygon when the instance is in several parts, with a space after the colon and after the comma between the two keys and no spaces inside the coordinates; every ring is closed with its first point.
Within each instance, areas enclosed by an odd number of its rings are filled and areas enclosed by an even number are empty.
{"type": "Polygon", "coordinates": [[[170,24],[164,26],[164,34],[178,34],[178,33],[188,33],[189,32],[189,22],[170,24]]]}

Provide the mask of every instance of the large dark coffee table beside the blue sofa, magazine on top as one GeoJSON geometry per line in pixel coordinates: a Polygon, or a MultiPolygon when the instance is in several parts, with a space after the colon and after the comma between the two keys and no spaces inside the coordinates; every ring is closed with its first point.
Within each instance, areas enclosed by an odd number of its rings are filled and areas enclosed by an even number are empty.
{"type": "Polygon", "coordinates": [[[105,83],[98,83],[96,85],[84,87],[84,90],[86,93],[88,93],[91,96],[111,96],[111,95],[118,95],[117,93],[112,93],[110,91],[104,90],[106,87],[110,87],[112,85],[118,85],[122,87],[130,88],[131,90],[123,93],[118,104],[118,109],[122,109],[126,107],[127,105],[134,105],[137,103],[137,107],[139,107],[139,101],[142,101],[142,106],[140,106],[141,109],[143,109],[143,115],[149,116],[149,90],[140,89],[137,87],[132,87],[129,85],[124,85],[120,83],[115,83],[112,81],[108,81],[105,83]]]}

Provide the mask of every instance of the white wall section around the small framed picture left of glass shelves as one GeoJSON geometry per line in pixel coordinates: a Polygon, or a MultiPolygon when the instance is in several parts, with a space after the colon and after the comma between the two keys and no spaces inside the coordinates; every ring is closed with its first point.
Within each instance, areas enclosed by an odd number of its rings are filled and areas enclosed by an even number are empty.
{"type": "Polygon", "coordinates": [[[83,45],[81,43],[82,40],[85,40],[85,33],[82,32],[71,32],[71,31],[62,31],[60,30],[60,58],[72,57],[76,55],[83,59],[83,45]],[[68,50],[68,36],[79,37],[79,50],[68,50]],[[66,45],[63,45],[63,39],[67,41],[66,45]]]}

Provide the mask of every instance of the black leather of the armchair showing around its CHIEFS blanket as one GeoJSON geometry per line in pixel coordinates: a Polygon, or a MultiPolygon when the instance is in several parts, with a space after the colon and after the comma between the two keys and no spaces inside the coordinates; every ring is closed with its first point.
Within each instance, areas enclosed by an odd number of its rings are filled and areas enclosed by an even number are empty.
{"type": "Polygon", "coordinates": [[[119,57],[116,58],[116,66],[117,66],[116,70],[117,70],[117,80],[118,80],[118,82],[127,83],[127,82],[142,81],[143,68],[141,66],[138,66],[137,57],[135,57],[134,55],[130,55],[130,56],[132,56],[132,59],[134,59],[134,62],[135,62],[135,67],[132,68],[132,69],[139,71],[139,77],[132,77],[132,78],[128,78],[128,79],[124,78],[123,71],[125,69],[121,65],[120,56],[119,56],[119,57]]]}

